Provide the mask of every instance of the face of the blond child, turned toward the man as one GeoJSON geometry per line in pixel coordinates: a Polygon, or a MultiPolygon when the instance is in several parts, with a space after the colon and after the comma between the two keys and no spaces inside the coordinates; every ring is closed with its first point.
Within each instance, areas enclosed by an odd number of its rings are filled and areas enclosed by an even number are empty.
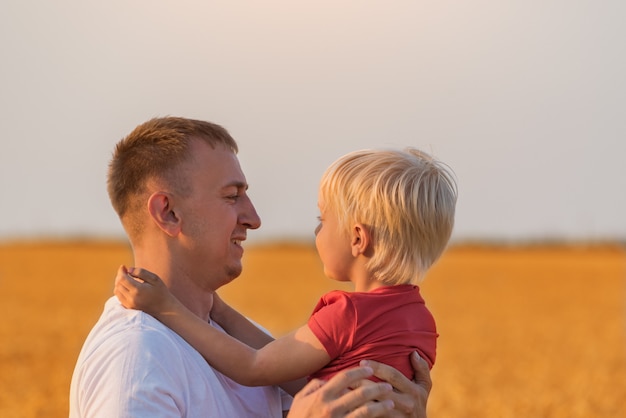
{"type": "Polygon", "coordinates": [[[319,225],[315,228],[315,247],[324,265],[324,274],[341,282],[350,281],[353,261],[350,237],[340,230],[337,215],[326,210],[324,202],[318,201],[319,225]]]}

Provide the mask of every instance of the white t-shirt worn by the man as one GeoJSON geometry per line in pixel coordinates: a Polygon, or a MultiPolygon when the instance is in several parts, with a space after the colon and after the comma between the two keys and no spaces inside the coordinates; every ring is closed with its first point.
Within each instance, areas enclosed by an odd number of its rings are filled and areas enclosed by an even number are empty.
{"type": "Polygon", "coordinates": [[[70,418],[282,417],[291,397],[213,370],[174,331],[112,297],[80,352],[70,418]]]}

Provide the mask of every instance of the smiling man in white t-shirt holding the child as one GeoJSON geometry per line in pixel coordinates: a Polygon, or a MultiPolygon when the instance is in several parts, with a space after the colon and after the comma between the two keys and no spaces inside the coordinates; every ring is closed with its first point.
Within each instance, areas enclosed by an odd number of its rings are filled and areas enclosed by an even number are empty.
{"type": "MultiPolygon", "coordinates": [[[[237,151],[221,126],[157,118],[120,141],[109,166],[109,196],[134,265],[158,274],[209,322],[215,291],[240,275],[241,243],[261,225],[237,151]]],[[[70,417],[273,417],[290,408],[293,418],[424,417],[428,367],[412,360],[416,383],[369,362],[327,383],[312,381],[291,404],[276,387],[245,387],[221,375],[173,331],[113,297],[78,358],[70,417]],[[389,383],[360,384],[372,374],[389,383]]]]}

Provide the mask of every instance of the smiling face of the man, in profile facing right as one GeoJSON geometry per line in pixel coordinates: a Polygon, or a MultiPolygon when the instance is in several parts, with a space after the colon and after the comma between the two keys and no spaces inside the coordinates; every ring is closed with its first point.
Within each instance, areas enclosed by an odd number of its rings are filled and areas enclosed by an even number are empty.
{"type": "Polygon", "coordinates": [[[185,268],[202,287],[217,290],[241,274],[248,229],[261,225],[237,156],[218,145],[194,141],[184,165],[191,194],[183,199],[181,236],[185,268]]]}

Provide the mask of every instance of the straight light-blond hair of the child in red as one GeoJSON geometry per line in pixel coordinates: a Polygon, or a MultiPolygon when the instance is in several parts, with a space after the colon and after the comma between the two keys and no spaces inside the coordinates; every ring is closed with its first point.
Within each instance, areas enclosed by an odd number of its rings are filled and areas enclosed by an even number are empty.
{"type": "Polygon", "coordinates": [[[447,166],[407,148],[344,155],[324,173],[320,201],[348,234],[371,234],[368,269],[386,285],[418,283],[443,253],[454,225],[457,189],[447,166]]]}

